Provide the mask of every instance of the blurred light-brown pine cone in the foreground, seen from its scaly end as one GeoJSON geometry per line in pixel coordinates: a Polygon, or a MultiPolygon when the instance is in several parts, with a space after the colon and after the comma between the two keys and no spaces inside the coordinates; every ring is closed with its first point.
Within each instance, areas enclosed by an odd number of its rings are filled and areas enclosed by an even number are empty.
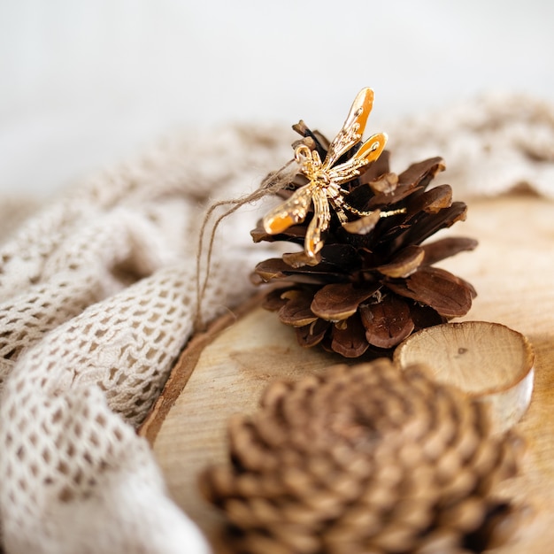
{"type": "Polygon", "coordinates": [[[235,552],[481,552],[519,514],[490,493],[522,442],[489,429],[482,404],[422,367],[338,365],[273,383],[258,413],[231,420],[231,466],[200,483],[235,552]]]}

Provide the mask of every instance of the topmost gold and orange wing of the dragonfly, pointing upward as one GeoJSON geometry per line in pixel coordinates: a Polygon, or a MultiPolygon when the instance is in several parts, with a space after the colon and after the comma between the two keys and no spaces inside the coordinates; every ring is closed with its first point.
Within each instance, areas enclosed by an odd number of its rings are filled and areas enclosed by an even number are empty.
{"type": "Polygon", "coordinates": [[[365,123],[372,111],[372,107],[373,90],[371,88],[362,88],[350,107],[350,112],[344,121],[344,125],[342,125],[342,129],[335,136],[335,140],[329,145],[327,158],[325,158],[324,162],[326,168],[334,165],[344,152],[350,150],[354,144],[357,144],[362,139],[365,123]]]}

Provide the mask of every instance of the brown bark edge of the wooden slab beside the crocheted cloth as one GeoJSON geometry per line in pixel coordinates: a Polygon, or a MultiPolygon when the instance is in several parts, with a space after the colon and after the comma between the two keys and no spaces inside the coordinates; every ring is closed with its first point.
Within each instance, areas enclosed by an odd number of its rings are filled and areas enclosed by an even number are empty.
{"type": "Polygon", "coordinates": [[[177,398],[181,395],[183,389],[187,386],[190,375],[194,372],[198,358],[202,350],[210,344],[224,329],[233,325],[237,319],[241,319],[247,313],[256,308],[267,291],[250,296],[248,300],[239,304],[232,310],[224,313],[212,321],[205,331],[193,335],[181,351],[179,358],[167,381],[165,381],[162,392],[156,399],[156,402],[150,408],[150,412],[137,428],[137,434],[143,436],[150,443],[150,446],[156,441],[159,429],[161,428],[167,414],[171,410],[177,398]]]}

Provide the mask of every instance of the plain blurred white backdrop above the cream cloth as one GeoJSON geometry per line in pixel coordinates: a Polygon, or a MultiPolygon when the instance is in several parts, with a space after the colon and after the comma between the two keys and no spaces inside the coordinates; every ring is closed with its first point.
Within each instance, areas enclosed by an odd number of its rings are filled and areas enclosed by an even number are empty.
{"type": "MultiPolygon", "coordinates": [[[[554,98],[550,0],[0,0],[0,193],[40,193],[177,128],[333,133],[519,91],[554,98]]],[[[386,129],[385,129],[386,130],[386,129]]]]}

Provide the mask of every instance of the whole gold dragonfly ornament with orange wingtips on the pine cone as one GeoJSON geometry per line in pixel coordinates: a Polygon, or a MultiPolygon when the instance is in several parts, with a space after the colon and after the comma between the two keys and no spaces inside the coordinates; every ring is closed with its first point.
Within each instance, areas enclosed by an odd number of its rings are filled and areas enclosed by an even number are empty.
{"type": "Polygon", "coordinates": [[[362,88],[350,107],[342,129],[329,145],[327,156],[323,161],[317,150],[310,149],[304,143],[296,146],[296,162],[300,167],[300,173],[304,174],[309,182],[297,189],[283,204],[268,212],[263,219],[265,233],[278,235],[289,227],[302,223],[312,204],[313,217],[304,239],[304,253],[308,258],[307,261],[315,261],[316,254],[323,247],[321,235],[327,230],[331,220],[329,204],[335,210],[342,226],[346,227],[350,225],[350,222],[345,211],[360,218],[378,216],[376,219],[404,212],[404,210],[361,212],[350,206],[344,198],[348,191],[342,189],[342,185],[358,177],[365,165],[379,158],[387,142],[385,133],[372,135],[351,158],[342,164],[335,165],[343,154],[361,141],[372,107],[373,90],[362,88]]]}

